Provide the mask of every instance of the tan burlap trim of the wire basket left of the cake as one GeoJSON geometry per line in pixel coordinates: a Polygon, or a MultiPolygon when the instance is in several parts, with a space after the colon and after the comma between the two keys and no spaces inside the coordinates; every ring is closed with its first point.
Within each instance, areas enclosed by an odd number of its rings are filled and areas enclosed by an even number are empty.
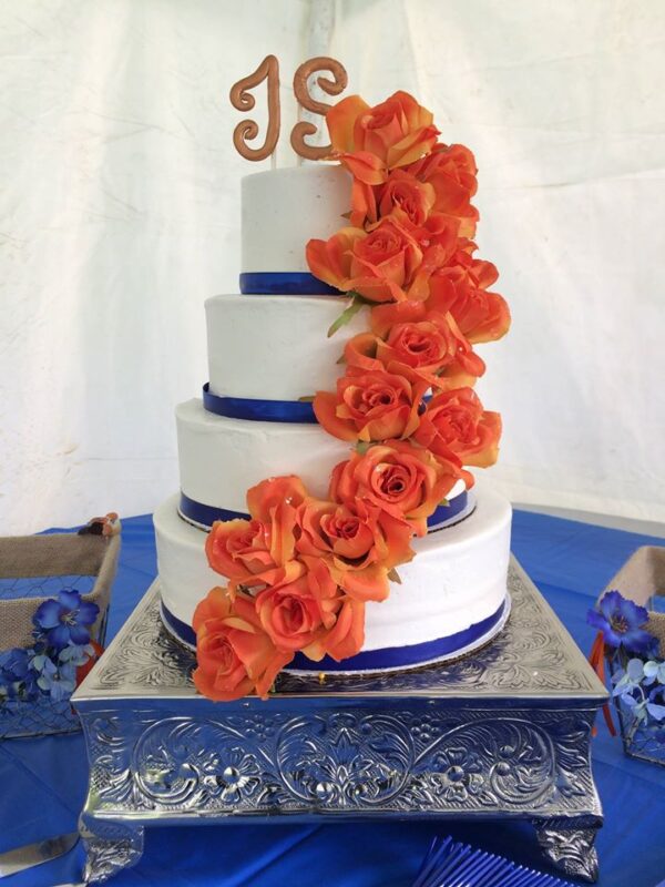
{"type": "MultiPolygon", "coordinates": [[[[0,538],[0,577],[25,579],[58,575],[95,575],[92,591],[81,597],[96,603],[100,615],[92,626],[98,638],[115,578],[120,536],[16,536],[0,538]]],[[[0,650],[31,646],[32,616],[49,597],[0,601],[0,650]]]]}

